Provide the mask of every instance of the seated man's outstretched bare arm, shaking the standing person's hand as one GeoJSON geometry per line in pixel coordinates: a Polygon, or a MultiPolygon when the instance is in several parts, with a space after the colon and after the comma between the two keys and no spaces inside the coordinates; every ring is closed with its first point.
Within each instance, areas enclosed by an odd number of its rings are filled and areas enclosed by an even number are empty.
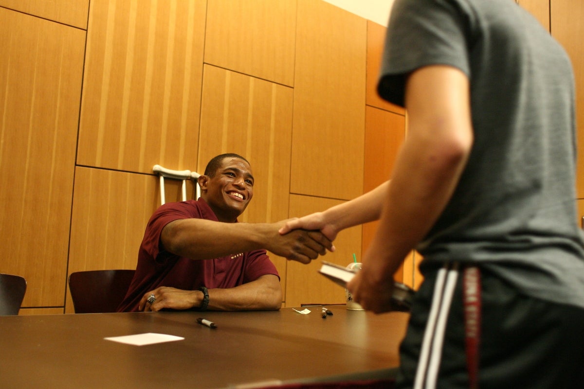
{"type": "Polygon", "coordinates": [[[166,251],[192,260],[206,260],[264,248],[281,257],[309,263],[332,247],[318,231],[278,233],[279,223],[221,223],[205,219],[180,219],[162,229],[166,251]]]}

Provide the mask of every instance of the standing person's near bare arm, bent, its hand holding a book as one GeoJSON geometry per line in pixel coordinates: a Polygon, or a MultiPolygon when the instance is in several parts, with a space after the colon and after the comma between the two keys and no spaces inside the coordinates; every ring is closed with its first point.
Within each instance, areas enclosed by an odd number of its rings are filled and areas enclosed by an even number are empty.
{"type": "Polygon", "coordinates": [[[392,278],[436,222],[456,188],[473,134],[468,78],[449,66],[427,66],[406,84],[408,136],[385,197],[381,222],[349,283],[354,298],[376,312],[390,309],[392,278]]]}

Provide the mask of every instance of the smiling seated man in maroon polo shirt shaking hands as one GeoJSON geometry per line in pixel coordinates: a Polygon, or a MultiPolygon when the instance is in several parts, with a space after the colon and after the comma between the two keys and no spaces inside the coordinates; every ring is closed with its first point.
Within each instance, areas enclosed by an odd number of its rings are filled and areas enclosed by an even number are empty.
{"type": "Polygon", "coordinates": [[[150,218],[119,312],[278,310],[280,278],[264,249],[308,263],[332,247],[320,232],[280,235],[283,222],[237,223],[253,197],[242,156],[214,157],[198,181],[198,201],[164,204],[150,218]]]}

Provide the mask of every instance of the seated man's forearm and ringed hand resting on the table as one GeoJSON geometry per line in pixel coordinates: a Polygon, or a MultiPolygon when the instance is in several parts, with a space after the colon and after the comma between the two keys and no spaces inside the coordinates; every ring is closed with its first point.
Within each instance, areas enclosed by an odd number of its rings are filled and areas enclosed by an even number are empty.
{"type": "MultiPolygon", "coordinates": [[[[280,282],[273,274],[260,276],[255,281],[244,283],[235,288],[209,289],[208,293],[207,309],[214,311],[279,310],[282,303],[280,282]]],[[[185,310],[198,308],[202,302],[203,292],[200,290],[181,290],[161,286],[142,296],[139,309],[141,311],[185,310]],[[151,293],[156,296],[156,301],[153,304],[147,303],[151,293]]]]}

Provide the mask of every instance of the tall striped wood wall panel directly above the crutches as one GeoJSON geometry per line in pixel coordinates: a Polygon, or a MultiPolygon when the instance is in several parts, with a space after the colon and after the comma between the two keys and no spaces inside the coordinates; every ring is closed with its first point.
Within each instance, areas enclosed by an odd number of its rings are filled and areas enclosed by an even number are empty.
{"type": "Polygon", "coordinates": [[[193,170],[204,24],[204,1],[91,2],[78,164],[193,170]]]}

